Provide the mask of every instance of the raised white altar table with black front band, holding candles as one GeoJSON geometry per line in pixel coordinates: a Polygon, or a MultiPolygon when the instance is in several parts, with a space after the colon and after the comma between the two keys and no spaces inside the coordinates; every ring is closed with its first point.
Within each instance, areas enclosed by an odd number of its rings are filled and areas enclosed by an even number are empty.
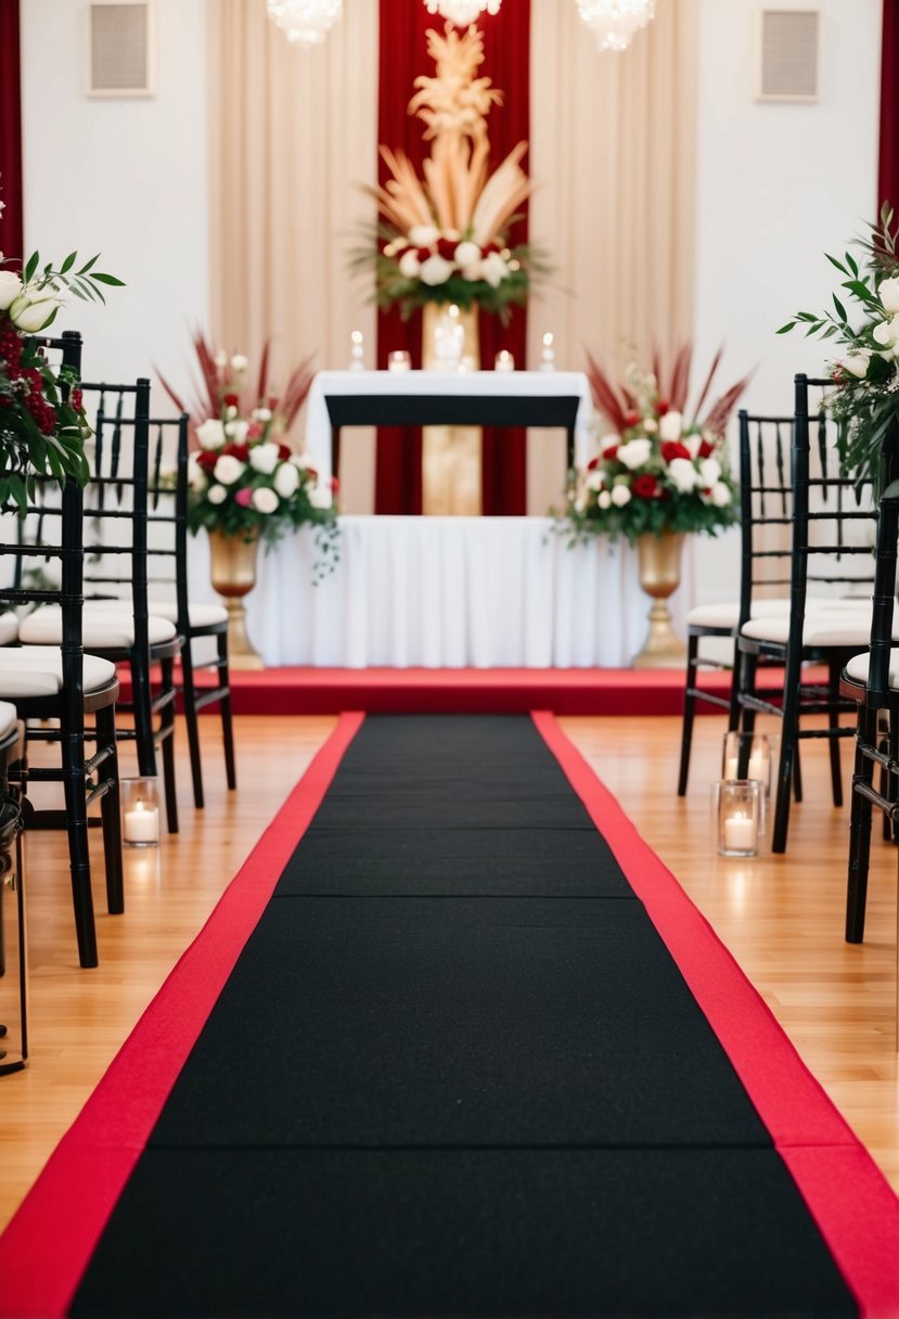
{"type": "Polygon", "coordinates": [[[306,451],[330,477],[343,426],[560,426],[569,462],[584,460],[591,418],[580,371],[319,371],[306,402],[306,451]]]}

